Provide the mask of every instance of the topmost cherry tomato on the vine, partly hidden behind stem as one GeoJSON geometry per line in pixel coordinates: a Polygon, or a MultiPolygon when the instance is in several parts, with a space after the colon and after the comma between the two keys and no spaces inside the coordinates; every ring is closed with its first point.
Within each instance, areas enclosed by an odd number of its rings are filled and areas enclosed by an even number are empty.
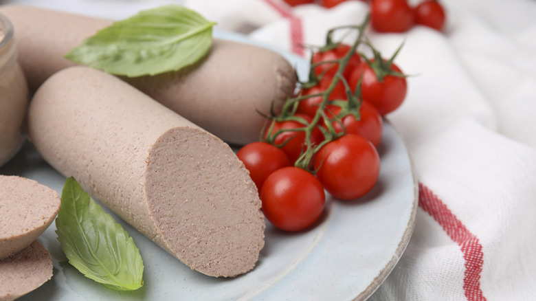
{"type": "MultiPolygon", "coordinates": [[[[315,52],[313,54],[312,63],[320,63],[320,62],[326,62],[328,60],[338,60],[342,57],[344,57],[348,51],[351,49],[350,45],[346,44],[338,44],[337,47],[326,50],[324,52],[315,52]]],[[[357,67],[361,63],[361,57],[357,52],[353,54],[350,57],[350,60],[348,61],[348,65],[346,65],[346,68],[344,69],[343,76],[345,78],[348,78],[350,76],[350,72],[357,67]]],[[[325,63],[318,65],[315,67],[315,74],[319,75],[324,73],[329,76],[335,76],[335,72],[337,72],[337,68],[339,67],[338,63],[325,63]]]]}

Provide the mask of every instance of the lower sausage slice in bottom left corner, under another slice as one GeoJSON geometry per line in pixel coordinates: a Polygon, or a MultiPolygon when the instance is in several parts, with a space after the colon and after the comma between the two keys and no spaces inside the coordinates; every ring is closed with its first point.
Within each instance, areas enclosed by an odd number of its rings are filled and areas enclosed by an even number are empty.
{"type": "Polygon", "coordinates": [[[34,241],[21,252],[0,260],[0,300],[20,298],[50,278],[50,254],[41,243],[34,241]]]}

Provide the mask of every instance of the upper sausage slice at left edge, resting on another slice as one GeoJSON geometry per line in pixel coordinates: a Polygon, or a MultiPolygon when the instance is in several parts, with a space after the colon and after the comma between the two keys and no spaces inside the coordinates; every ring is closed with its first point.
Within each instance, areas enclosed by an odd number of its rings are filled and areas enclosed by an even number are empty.
{"type": "Polygon", "coordinates": [[[60,210],[58,192],[32,179],[0,175],[0,260],[40,236],[60,210]]]}

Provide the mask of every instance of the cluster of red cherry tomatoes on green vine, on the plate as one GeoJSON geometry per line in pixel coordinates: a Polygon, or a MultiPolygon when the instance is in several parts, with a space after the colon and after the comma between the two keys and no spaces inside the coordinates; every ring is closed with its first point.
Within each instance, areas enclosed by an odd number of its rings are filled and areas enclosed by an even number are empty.
{"type": "Polygon", "coordinates": [[[393,62],[400,48],[385,60],[366,41],[369,23],[366,16],[359,25],[332,28],[326,45],[310,47],[308,80],[298,83],[278,113],[272,108],[265,116],[260,142],[237,153],[256,183],[265,216],[281,230],[313,225],[324,210],[324,190],[351,200],[377,182],[382,116],[405,98],[405,75],[393,62]],[[355,31],[351,45],[334,41],[339,30],[355,31]],[[361,54],[361,46],[374,57],[361,54]]]}

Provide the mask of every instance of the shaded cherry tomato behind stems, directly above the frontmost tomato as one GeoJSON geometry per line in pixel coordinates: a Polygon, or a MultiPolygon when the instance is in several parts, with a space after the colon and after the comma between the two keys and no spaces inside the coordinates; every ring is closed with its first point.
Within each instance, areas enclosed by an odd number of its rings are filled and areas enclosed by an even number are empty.
{"type": "MultiPolygon", "coordinates": [[[[303,118],[307,122],[311,122],[311,118],[308,115],[303,114],[295,114],[298,117],[303,118]]],[[[275,122],[273,124],[273,129],[270,132],[271,135],[277,133],[280,129],[302,129],[305,125],[296,122],[293,120],[286,120],[283,122],[275,122]]],[[[265,133],[265,137],[268,134],[269,129],[267,129],[265,133]]],[[[324,135],[322,135],[322,132],[320,129],[315,128],[313,130],[313,133],[311,134],[311,142],[313,144],[319,144],[324,140],[324,135]]],[[[277,146],[284,144],[281,146],[281,150],[284,151],[284,153],[289,157],[289,160],[291,161],[291,164],[294,164],[294,162],[300,157],[302,151],[305,150],[305,132],[304,131],[284,131],[277,135],[276,140],[274,141],[274,144],[277,146]],[[285,143],[286,142],[286,143],[285,143]]]]}

